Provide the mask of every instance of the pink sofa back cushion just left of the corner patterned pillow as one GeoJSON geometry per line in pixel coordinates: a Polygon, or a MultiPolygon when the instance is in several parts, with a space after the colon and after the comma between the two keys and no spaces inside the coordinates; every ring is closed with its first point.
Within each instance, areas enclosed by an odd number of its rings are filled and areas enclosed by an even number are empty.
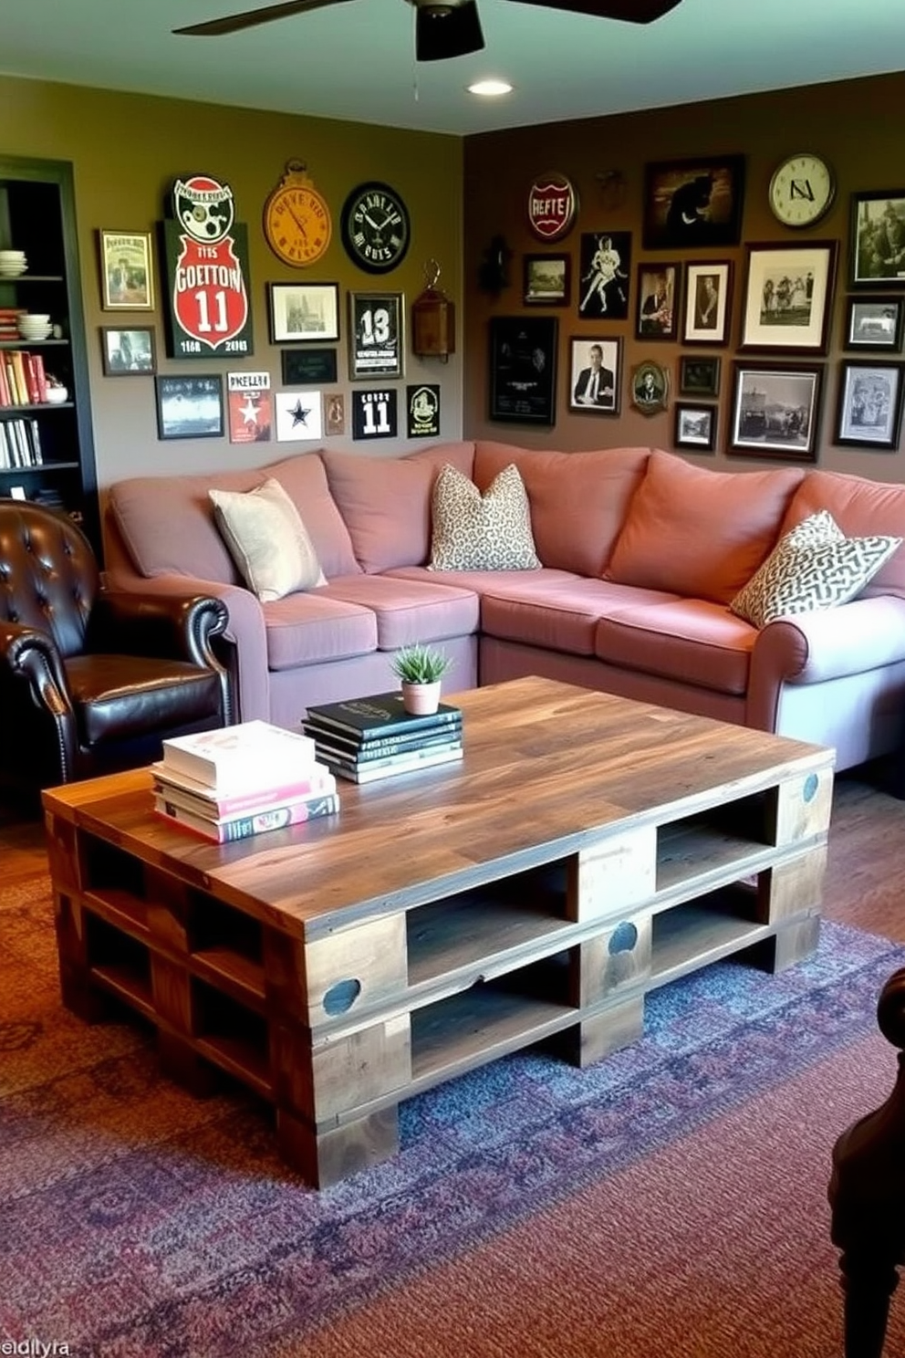
{"type": "Polygon", "coordinates": [[[471,475],[474,443],[445,443],[407,458],[323,452],[327,481],[362,570],[421,566],[430,551],[430,497],[445,463],[471,475]]]}

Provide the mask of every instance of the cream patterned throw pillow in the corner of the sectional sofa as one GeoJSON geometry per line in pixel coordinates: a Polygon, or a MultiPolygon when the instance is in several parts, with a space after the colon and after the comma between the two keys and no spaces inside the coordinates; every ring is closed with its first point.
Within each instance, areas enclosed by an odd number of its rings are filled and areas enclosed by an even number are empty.
{"type": "Polygon", "coordinates": [[[539,570],[531,505],[510,463],[483,496],[446,463],[434,482],[429,570],[539,570]]]}

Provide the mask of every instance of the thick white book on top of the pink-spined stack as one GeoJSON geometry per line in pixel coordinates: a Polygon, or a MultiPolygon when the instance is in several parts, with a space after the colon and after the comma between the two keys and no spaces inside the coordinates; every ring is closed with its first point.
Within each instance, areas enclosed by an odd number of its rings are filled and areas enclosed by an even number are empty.
{"type": "Polygon", "coordinates": [[[167,770],[189,774],[224,796],[305,778],[316,763],[309,736],[269,721],[240,721],[216,731],[171,736],[163,743],[167,770]]]}

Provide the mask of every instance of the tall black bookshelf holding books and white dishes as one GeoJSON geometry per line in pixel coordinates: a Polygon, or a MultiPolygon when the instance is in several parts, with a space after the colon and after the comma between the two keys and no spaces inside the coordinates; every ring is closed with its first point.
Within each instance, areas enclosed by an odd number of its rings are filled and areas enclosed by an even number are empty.
{"type": "Polygon", "coordinates": [[[68,391],[46,401],[0,405],[0,496],[19,493],[64,509],[100,550],[96,470],[72,166],[0,155],[0,249],[24,250],[27,270],[0,277],[0,311],[46,312],[54,331],[42,341],[0,340],[0,360],[38,354],[68,391]],[[39,448],[39,463],[35,448],[39,448]],[[4,452],[5,449],[5,452],[4,452]]]}

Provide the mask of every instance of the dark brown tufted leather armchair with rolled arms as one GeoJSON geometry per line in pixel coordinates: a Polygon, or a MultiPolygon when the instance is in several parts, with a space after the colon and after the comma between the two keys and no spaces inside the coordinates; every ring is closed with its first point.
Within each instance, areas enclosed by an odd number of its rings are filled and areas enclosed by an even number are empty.
{"type": "Polygon", "coordinates": [[[117,593],[68,517],[0,500],[0,779],[37,790],[160,758],[232,721],[202,595],[117,593]]]}

